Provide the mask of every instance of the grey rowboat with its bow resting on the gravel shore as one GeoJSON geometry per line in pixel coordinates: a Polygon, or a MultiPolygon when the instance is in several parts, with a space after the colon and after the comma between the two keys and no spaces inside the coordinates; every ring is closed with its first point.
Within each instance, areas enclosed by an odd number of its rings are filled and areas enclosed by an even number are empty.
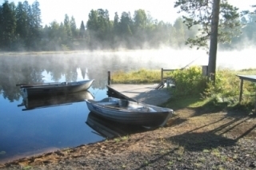
{"type": "Polygon", "coordinates": [[[86,100],[86,105],[90,112],[107,120],[146,127],[162,127],[174,113],[173,109],[114,97],[102,101],[86,100]]]}

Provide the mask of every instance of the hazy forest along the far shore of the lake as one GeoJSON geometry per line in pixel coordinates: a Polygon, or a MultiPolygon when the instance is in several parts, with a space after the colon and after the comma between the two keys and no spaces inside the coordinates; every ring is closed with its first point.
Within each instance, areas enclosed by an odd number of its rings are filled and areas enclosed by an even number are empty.
{"type": "MultiPolygon", "coordinates": [[[[63,22],[53,21],[42,26],[38,1],[5,1],[0,6],[0,52],[4,51],[67,51],[93,49],[158,49],[186,46],[194,38],[199,26],[187,28],[182,18],[173,24],[158,21],[145,10],[138,9],[114,14],[90,10],[88,21],[78,24],[73,16],[65,14],[63,22]]],[[[219,44],[219,49],[242,49],[256,42],[256,17],[248,14],[240,19],[241,30],[230,43],[219,44]]]]}

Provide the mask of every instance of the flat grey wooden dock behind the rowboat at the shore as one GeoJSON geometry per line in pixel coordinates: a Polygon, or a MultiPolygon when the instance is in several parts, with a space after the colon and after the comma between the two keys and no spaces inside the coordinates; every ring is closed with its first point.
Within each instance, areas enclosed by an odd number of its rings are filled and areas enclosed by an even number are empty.
{"type": "Polygon", "coordinates": [[[171,94],[165,87],[156,89],[158,84],[154,85],[130,85],[130,84],[117,84],[107,85],[108,93],[115,93],[120,97],[126,98],[130,101],[139,101],[149,105],[160,105],[168,99],[171,94]]]}

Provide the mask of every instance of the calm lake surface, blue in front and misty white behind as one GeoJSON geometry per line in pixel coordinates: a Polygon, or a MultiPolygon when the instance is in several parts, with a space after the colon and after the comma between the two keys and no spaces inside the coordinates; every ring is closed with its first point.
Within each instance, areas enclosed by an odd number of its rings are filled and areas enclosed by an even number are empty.
{"type": "MultiPolygon", "coordinates": [[[[255,68],[255,59],[250,53],[253,52],[247,50],[218,53],[218,67],[255,68]]],[[[206,53],[196,50],[161,49],[40,55],[1,53],[0,163],[105,139],[105,136],[99,135],[94,128],[86,124],[90,113],[81,97],[86,98],[89,95],[97,101],[107,97],[108,71],[159,69],[160,79],[161,68],[180,69],[186,65],[207,63],[206,53]],[[21,105],[22,93],[16,86],[20,83],[86,79],[95,81],[86,94],[79,93],[78,97],[74,97],[74,101],[31,110],[26,110],[25,106],[21,105]]]]}

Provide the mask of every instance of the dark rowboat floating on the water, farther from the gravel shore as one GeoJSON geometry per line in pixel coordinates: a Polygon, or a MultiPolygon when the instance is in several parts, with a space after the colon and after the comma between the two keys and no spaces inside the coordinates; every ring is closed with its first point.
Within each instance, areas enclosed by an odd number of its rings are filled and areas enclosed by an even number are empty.
{"type": "Polygon", "coordinates": [[[87,90],[92,85],[94,79],[86,81],[62,82],[62,83],[42,83],[20,85],[23,97],[42,96],[47,94],[76,93],[87,90]]]}

